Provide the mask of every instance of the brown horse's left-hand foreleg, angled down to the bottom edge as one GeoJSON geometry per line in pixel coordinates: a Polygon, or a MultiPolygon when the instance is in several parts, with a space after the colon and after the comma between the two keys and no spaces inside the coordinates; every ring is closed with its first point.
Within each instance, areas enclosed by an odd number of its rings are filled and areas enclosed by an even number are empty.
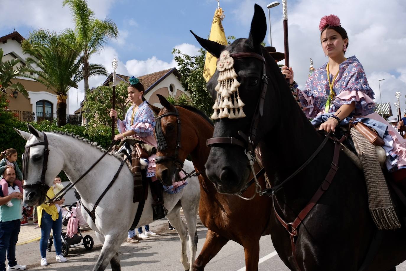
{"type": "Polygon", "coordinates": [[[192,270],[204,270],[206,264],[217,255],[218,251],[220,251],[228,241],[229,239],[220,236],[211,230],[207,230],[206,241],[203,244],[199,257],[197,257],[196,261],[193,263],[192,270]]]}

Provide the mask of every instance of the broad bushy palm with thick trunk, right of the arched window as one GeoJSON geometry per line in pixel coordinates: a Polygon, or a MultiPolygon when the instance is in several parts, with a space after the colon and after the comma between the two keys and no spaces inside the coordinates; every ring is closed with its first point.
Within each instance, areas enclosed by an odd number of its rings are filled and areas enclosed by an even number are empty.
{"type": "MultiPolygon", "coordinates": [[[[66,124],[67,93],[71,87],[78,88],[78,82],[83,79],[84,74],[82,58],[66,41],[64,34],[40,29],[30,33],[22,44],[24,53],[30,54],[26,59],[27,63],[38,67],[28,69],[35,76],[26,76],[52,89],[57,95],[58,126],[66,124]]],[[[106,75],[106,69],[102,65],[89,65],[89,70],[90,76],[106,75]]]]}

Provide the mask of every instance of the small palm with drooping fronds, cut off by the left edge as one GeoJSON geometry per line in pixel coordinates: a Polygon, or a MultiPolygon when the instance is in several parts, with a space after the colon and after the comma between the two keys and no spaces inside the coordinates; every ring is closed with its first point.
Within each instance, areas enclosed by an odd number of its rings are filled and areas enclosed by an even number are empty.
{"type": "Polygon", "coordinates": [[[21,83],[11,82],[11,79],[15,79],[17,76],[24,76],[24,72],[27,71],[28,67],[21,65],[15,69],[15,66],[20,63],[21,60],[11,59],[3,62],[3,54],[4,51],[0,48],[0,91],[5,92],[6,89],[15,89],[28,98],[28,93],[21,83]]]}

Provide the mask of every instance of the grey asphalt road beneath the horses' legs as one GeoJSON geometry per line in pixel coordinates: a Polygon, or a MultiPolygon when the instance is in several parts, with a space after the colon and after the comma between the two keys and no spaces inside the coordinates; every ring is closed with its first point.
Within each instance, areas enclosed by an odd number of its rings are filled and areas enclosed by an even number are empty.
{"type": "MultiPolygon", "coordinates": [[[[200,222],[200,221],[199,221],[200,222]]],[[[120,260],[123,271],[181,271],[183,270],[180,259],[180,241],[176,231],[168,230],[166,219],[161,219],[150,224],[151,230],[159,235],[150,237],[139,244],[123,243],[120,249],[120,260]]],[[[249,231],[249,229],[247,229],[249,231]]],[[[198,224],[197,232],[199,243],[197,254],[205,241],[207,229],[198,224]]],[[[19,264],[27,264],[30,270],[47,271],[85,271],[91,270],[99,256],[101,244],[96,240],[93,231],[85,232],[95,239],[95,247],[86,251],[84,247],[71,248],[68,261],[55,262],[54,248],[48,252],[48,266],[41,267],[39,262],[39,242],[32,242],[17,246],[17,261],[19,264]]],[[[276,254],[270,236],[263,236],[260,241],[260,264],[259,270],[289,271],[276,254]]],[[[189,252],[188,252],[189,255],[189,252]]],[[[345,260],[345,259],[343,259],[345,260]]],[[[111,270],[110,266],[106,270],[111,270]]],[[[218,271],[244,271],[244,250],[240,245],[230,241],[222,250],[207,264],[205,270],[218,271]]],[[[397,267],[398,271],[406,271],[406,264],[397,267]]]]}

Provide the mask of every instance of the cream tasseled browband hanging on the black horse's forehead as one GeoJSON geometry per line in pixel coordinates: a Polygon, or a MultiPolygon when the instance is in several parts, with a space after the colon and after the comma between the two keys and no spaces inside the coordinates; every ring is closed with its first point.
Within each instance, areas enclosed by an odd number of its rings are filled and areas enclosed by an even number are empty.
{"type": "Polygon", "coordinates": [[[246,117],[242,107],[244,103],[240,98],[237,81],[237,74],[234,70],[234,59],[229,51],[223,51],[217,62],[218,84],[214,88],[217,91],[216,102],[213,105],[214,113],[212,119],[240,119],[246,117]],[[230,109],[230,111],[229,111],[230,109]]]}

